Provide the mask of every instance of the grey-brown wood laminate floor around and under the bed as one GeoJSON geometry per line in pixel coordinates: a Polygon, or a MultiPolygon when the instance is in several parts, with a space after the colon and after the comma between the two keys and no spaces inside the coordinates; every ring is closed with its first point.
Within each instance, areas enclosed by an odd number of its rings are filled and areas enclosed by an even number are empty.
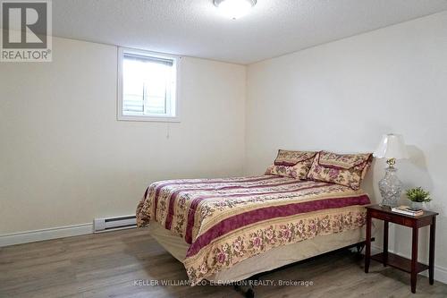
{"type": "MultiPolygon", "coordinates": [[[[256,297],[447,297],[447,285],[372,261],[370,273],[339,251],[270,273],[261,280],[308,280],[312,286],[257,286],[256,297]]],[[[0,297],[241,297],[232,286],[150,286],[136,280],[186,280],[181,263],[146,229],[89,234],[0,248],[0,297]]]]}

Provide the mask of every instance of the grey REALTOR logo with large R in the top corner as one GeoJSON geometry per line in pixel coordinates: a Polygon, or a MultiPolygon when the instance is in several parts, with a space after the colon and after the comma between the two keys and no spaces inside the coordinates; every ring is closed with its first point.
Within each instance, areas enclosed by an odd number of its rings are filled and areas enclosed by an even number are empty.
{"type": "Polygon", "coordinates": [[[51,1],[2,1],[1,62],[50,62],[51,1]]]}

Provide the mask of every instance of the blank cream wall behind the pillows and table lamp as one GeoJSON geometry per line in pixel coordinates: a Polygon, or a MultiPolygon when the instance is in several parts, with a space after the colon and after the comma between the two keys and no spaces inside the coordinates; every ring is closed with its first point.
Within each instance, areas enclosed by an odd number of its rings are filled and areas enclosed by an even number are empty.
{"type": "MultiPolygon", "coordinates": [[[[249,174],[279,148],[373,151],[383,133],[402,133],[411,159],[399,175],[432,192],[436,265],[447,268],[447,12],[249,65],[246,111],[249,174]]],[[[384,166],[365,183],[375,201],[384,166]]],[[[392,249],[409,255],[409,230],[395,232],[392,249]]]]}

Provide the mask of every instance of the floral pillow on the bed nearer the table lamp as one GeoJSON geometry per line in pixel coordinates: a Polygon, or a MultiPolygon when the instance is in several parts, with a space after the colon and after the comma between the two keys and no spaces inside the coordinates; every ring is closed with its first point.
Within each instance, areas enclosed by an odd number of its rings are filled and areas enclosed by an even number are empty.
{"type": "Polygon", "coordinates": [[[371,153],[336,154],[320,151],[310,167],[308,179],[341,184],[358,190],[372,160],[371,153]]]}

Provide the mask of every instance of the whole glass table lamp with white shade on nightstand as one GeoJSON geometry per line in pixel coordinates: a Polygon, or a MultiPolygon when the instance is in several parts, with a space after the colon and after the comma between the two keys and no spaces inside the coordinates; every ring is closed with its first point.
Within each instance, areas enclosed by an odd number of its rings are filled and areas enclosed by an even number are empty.
{"type": "Polygon", "coordinates": [[[384,178],[379,181],[379,190],[382,195],[381,206],[396,207],[401,199],[403,183],[396,175],[396,159],[409,158],[405,142],[400,134],[384,134],[379,146],[374,152],[375,158],[386,158],[388,167],[384,178]]]}

